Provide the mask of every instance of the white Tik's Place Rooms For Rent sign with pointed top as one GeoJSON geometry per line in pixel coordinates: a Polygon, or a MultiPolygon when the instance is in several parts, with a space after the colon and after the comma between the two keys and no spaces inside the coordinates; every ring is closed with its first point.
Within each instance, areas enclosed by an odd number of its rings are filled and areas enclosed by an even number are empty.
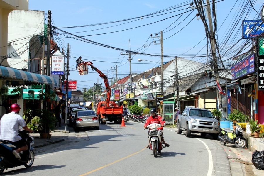
{"type": "Polygon", "coordinates": [[[64,75],[64,56],[57,51],[51,56],[51,75],[64,75]]]}

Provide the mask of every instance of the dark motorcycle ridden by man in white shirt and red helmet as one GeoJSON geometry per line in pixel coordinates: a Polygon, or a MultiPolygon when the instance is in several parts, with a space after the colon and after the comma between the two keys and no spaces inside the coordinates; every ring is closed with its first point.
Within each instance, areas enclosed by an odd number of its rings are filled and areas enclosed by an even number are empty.
{"type": "Polygon", "coordinates": [[[26,141],[28,150],[23,151],[20,154],[21,159],[18,160],[12,153],[17,148],[9,141],[0,140],[0,174],[8,168],[18,167],[24,165],[25,167],[31,167],[34,162],[34,151],[32,145],[34,144],[34,138],[26,133],[26,130],[19,131],[19,136],[26,141]]]}

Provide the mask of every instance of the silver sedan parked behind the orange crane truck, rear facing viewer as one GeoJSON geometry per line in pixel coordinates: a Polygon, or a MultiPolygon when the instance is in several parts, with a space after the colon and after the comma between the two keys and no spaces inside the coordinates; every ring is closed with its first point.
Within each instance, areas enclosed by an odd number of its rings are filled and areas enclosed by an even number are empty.
{"type": "Polygon", "coordinates": [[[73,121],[73,130],[78,132],[80,128],[94,128],[99,130],[99,119],[94,111],[88,110],[76,112],[73,121]]]}

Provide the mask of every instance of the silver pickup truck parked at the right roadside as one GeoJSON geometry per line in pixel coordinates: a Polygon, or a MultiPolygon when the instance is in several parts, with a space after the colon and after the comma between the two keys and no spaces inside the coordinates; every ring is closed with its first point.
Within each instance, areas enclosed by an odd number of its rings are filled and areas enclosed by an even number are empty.
{"type": "Polygon", "coordinates": [[[181,134],[186,131],[186,137],[189,138],[191,133],[201,133],[204,137],[206,134],[218,138],[220,123],[215,119],[208,109],[185,108],[182,115],[178,116],[177,133],[181,134]]]}

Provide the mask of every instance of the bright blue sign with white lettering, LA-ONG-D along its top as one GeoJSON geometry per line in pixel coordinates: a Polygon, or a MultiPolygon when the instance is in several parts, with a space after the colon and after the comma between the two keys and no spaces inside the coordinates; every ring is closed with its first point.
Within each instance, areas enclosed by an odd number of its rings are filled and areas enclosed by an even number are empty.
{"type": "Polygon", "coordinates": [[[264,24],[261,20],[243,20],[242,38],[256,38],[264,30],[264,24]]]}

